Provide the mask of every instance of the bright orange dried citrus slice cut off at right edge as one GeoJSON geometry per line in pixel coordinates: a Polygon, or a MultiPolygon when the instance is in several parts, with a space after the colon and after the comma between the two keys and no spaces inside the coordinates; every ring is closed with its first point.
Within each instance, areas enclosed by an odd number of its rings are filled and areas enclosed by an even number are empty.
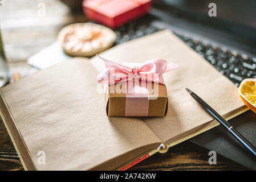
{"type": "Polygon", "coordinates": [[[256,113],[256,78],[246,78],[238,88],[242,101],[256,113]]]}

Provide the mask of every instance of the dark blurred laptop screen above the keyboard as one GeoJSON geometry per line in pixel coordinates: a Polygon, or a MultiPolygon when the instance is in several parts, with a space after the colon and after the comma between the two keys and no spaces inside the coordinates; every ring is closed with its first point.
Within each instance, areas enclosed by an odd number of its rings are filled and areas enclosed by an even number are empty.
{"type": "Polygon", "coordinates": [[[172,13],[176,11],[174,13],[256,42],[255,0],[155,0],[154,3],[172,13]],[[208,15],[209,3],[216,4],[216,17],[208,15]]]}

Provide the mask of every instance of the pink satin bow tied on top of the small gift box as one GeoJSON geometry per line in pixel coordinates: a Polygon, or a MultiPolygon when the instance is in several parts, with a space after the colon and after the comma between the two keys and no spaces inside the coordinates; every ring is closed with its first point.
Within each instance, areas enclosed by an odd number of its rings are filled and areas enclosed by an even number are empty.
{"type": "Polygon", "coordinates": [[[164,84],[164,79],[162,77],[163,73],[180,68],[179,65],[168,63],[163,59],[152,59],[141,66],[135,64],[135,66],[130,68],[106,60],[99,55],[97,56],[104,61],[105,67],[107,68],[105,72],[100,73],[100,75],[97,76],[97,82],[102,85],[112,85],[117,82],[128,80],[144,80],[164,84]]]}

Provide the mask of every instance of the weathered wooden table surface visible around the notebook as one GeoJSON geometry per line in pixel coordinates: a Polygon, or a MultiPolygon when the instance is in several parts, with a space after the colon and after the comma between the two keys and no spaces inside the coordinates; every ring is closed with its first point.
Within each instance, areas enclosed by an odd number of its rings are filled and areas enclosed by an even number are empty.
{"type": "MultiPolygon", "coordinates": [[[[37,69],[26,63],[27,57],[56,40],[60,28],[66,24],[85,22],[85,16],[71,14],[58,0],[3,0],[0,7],[0,26],[10,71],[29,75],[37,69]],[[41,4],[39,4],[41,3],[41,4]],[[43,4],[42,4],[43,3],[43,4]],[[45,16],[42,7],[45,7],[45,16]]],[[[217,164],[208,163],[208,150],[186,141],[165,154],[151,158],[131,170],[244,170],[245,167],[217,155],[217,164]]],[[[19,156],[0,121],[0,170],[23,170],[19,156]]]]}

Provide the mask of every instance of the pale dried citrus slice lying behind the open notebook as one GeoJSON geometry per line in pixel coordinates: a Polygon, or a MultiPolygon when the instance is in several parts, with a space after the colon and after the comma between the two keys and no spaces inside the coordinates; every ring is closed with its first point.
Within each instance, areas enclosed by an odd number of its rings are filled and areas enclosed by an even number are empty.
{"type": "Polygon", "coordinates": [[[94,56],[111,47],[116,41],[116,34],[99,24],[74,23],[60,30],[58,40],[68,55],[94,56]]]}

